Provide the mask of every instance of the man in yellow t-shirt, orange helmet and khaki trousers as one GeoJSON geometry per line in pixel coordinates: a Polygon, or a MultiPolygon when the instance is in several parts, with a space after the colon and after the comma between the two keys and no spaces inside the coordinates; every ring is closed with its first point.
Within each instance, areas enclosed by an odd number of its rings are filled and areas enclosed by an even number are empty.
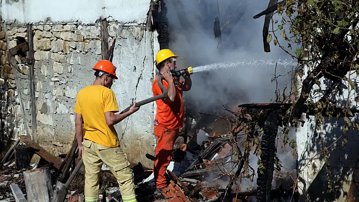
{"type": "Polygon", "coordinates": [[[115,114],[119,111],[111,90],[113,80],[118,79],[115,66],[108,60],[101,60],[92,69],[95,70],[95,82],[79,91],[75,105],[76,137],[86,172],[85,201],[97,201],[99,173],[105,163],[117,178],[123,201],[134,202],[137,200],[130,164],[120,147],[114,125],[139,107],[133,102],[128,112],[115,114]]]}

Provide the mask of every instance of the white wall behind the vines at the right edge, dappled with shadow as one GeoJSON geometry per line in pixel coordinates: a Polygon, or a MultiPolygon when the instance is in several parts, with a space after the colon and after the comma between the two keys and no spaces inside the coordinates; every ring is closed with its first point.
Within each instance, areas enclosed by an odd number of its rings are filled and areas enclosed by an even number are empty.
{"type": "MultiPolygon", "coordinates": [[[[304,70],[307,72],[307,69],[304,70]]],[[[303,76],[305,78],[306,74],[303,76]]],[[[346,75],[348,78],[349,73],[346,75]]],[[[358,82],[358,77],[355,72],[351,72],[350,78],[358,82]]],[[[321,79],[321,89],[327,88],[328,83],[325,79],[321,79]]],[[[348,91],[348,83],[343,82],[341,85],[342,93],[333,93],[332,100],[336,102],[339,107],[346,107],[349,101],[350,107],[355,108],[357,102],[355,101],[355,94],[358,92],[358,87],[355,85],[354,89],[350,88],[348,91]]],[[[314,86],[314,89],[318,89],[314,86]]],[[[317,97],[312,91],[313,99],[317,102],[321,96],[317,97]]],[[[351,121],[358,122],[357,114],[351,118],[351,121]]],[[[349,127],[347,134],[343,134],[344,118],[332,118],[329,120],[325,117],[325,124],[320,126],[320,130],[315,130],[315,117],[306,117],[302,114],[302,119],[305,121],[303,127],[297,127],[297,149],[298,149],[298,169],[301,171],[299,175],[298,186],[299,191],[303,194],[300,201],[305,201],[307,194],[311,201],[346,201],[349,195],[350,183],[354,166],[357,161],[359,147],[358,132],[349,127]],[[315,131],[317,133],[315,133],[315,131]],[[342,146],[344,138],[347,138],[347,144],[342,146]],[[328,162],[330,163],[327,173],[324,167],[325,155],[323,152],[325,148],[328,149],[328,162]],[[328,187],[327,175],[329,175],[333,190],[328,187]],[[303,190],[302,190],[303,189],[303,190]]]]}

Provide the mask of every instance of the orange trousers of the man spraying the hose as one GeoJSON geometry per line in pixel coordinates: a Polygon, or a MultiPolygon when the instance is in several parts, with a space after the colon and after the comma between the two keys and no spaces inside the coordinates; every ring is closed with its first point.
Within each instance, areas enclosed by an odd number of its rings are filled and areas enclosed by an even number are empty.
{"type": "Polygon", "coordinates": [[[160,189],[167,185],[166,181],[166,169],[171,161],[172,149],[174,141],[178,137],[177,130],[167,130],[163,127],[155,127],[155,135],[158,137],[155,164],[153,174],[155,176],[156,188],[160,189]]]}

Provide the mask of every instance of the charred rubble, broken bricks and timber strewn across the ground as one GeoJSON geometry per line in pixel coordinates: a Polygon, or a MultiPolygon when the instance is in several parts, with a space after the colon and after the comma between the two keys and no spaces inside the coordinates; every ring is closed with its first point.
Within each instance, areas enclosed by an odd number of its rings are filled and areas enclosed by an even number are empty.
{"type": "MultiPolygon", "coordinates": [[[[235,149],[241,148],[241,152],[244,152],[242,148],[247,135],[244,128],[229,127],[226,120],[218,117],[201,116],[197,121],[192,120],[190,129],[183,130],[175,142],[167,167],[168,185],[161,193],[156,194],[152,169],[143,167],[140,162],[131,164],[137,201],[209,202],[221,201],[225,195],[231,198],[230,201],[257,201],[255,179],[242,176],[243,181],[234,183],[230,191],[226,190],[231,173],[238,167],[233,164],[235,149]],[[236,133],[235,136],[233,132],[236,133]]],[[[14,155],[14,152],[8,151],[6,162],[0,165],[0,201],[15,201],[11,184],[17,184],[27,197],[23,178],[23,172],[27,170],[48,167],[52,188],[55,189],[56,182],[65,183],[79,162],[76,141],[67,154],[55,157],[28,137],[20,136],[19,139],[12,148],[18,148],[18,152],[14,155]],[[27,153],[37,158],[29,160],[30,156],[25,155],[27,153]]],[[[146,157],[155,159],[151,154],[146,154],[146,157]]],[[[285,198],[293,190],[285,176],[292,173],[277,170],[273,173],[272,200],[286,201],[285,198]]],[[[83,170],[75,174],[67,187],[64,201],[84,201],[83,170]]],[[[122,201],[117,180],[105,164],[101,171],[98,201],[122,201]]]]}

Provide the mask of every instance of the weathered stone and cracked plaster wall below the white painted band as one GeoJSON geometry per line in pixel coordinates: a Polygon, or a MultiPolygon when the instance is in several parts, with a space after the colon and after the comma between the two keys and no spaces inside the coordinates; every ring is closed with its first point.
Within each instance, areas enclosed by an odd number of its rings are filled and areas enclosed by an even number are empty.
{"type": "MultiPolygon", "coordinates": [[[[26,25],[7,23],[10,48],[16,46],[16,37],[27,38],[26,25]]],[[[153,33],[143,24],[109,22],[109,44],[116,37],[113,62],[117,66],[119,80],[112,90],[117,96],[120,110],[130,103],[152,96],[151,84],[154,72],[153,33]]],[[[34,31],[34,80],[37,99],[38,141],[54,155],[65,153],[75,137],[74,106],[79,90],[94,80],[93,65],[101,59],[100,22],[40,22],[33,23],[34,31]]],[[[19,61],[19,59],[18,59],[19,61]]],[[[19,119],[16,135],[25,134],[25,126],[31,133],[31,109],[28,66],[20,65],[25,75],[19,75],[18,92],[25,109],[25,122],[19,119]]],[[[116,126],[124,151],[130,161],[152,167],[145,157],[153,154],[154,105],[141,107],[133,117],[116,126]],[[143,163],[145,161],[145,163],[143,163]]],[[[21,115],[21,103],[15,114],[21,115]]],[[[21,117],[21,116],[20,116],[21,117]]]]}

